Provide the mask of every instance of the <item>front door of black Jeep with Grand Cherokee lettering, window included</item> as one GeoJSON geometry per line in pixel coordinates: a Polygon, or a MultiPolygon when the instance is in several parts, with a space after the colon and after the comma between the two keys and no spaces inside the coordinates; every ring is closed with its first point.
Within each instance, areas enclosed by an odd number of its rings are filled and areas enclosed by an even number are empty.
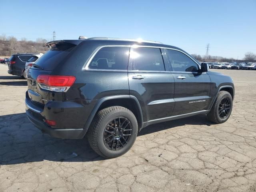
{"type": "Polygon", "coordinates": [[[210,77],[199,72],[199,65],[187,54],[166,49],[168,63],[175,80],[173,115],[206,110],[210,96],[210,77]]]}

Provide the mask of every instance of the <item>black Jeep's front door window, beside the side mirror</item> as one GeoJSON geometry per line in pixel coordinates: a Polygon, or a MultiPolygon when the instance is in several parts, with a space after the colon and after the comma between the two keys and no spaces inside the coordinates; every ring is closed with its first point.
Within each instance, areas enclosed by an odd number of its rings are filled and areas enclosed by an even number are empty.
{"type": "Polygon", "coordinates": [[[198,65],[184,53],[167,49],[173,71],[198,72],[198,65]]]}

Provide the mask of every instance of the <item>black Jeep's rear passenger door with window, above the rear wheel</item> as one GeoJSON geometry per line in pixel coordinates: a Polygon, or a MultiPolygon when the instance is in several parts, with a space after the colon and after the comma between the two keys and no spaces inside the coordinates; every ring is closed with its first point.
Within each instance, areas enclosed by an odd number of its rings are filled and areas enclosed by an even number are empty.
{"type": "Polygon", "coordinates": [[[172,116],[174,78],[164,50],[132,47],[128,69],[130,95],[138,98],[144,122],[172,116]]]}

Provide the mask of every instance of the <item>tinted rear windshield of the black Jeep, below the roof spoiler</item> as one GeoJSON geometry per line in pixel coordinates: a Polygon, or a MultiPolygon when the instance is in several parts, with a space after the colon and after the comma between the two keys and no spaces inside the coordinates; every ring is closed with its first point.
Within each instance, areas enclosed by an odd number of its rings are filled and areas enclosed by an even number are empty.
{"type": "Polygon", "coordinates": [[[69,43],[59,43],[46,52],[35,64],[44,70],[53,70],[75,47],[69,43]]]}

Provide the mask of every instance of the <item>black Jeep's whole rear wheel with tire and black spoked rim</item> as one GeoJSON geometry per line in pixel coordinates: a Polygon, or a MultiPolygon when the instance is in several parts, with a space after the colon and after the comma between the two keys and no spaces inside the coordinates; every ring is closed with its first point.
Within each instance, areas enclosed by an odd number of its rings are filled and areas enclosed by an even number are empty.
{"type": "Polygon", "coordinates": [[[136,140],[137,134],[138,123],[134,114],[127,108],[112,106],[100,110],[95,115],[87,132],[87,138],[91,148],[100,156],[104,158],[115,158],[130,150],[136,140]],[[119,121],[116,120],[118,118],[119,121]],[[114,123],[111,124],[112,122],[114,123]],[[130,127],[129,129],[127,129],[126,124],[130,127]],[[125,131],[120,131],[120,125],[121,127],[123,125],[123,128],[126,126],[126,128],[124,128],[125,131]],[[116,128],[118,128],[119,131],[116,130],[116,128]],[[118,132],[118,134],[116,134],[116,132],[118,132]],[[129,136],[124,136],[123,134],[129,136]],[[120,148],[117,149],[117,147],[120,148]]]}

